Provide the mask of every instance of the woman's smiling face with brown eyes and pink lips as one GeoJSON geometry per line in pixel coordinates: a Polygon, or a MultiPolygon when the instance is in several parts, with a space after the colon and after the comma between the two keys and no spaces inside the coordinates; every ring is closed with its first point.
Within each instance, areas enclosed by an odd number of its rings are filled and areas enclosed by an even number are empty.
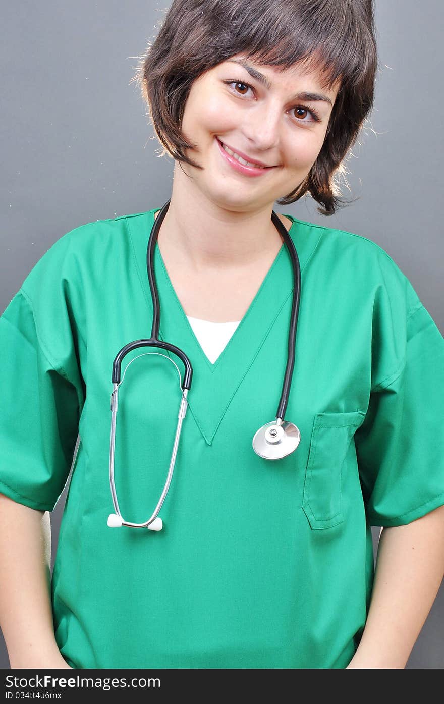
{"type": "Polygon", "coordinates": [[[243,61],[241,54],[192,85],[182,130],[196,144],[186,156],[203,170],[183,163],[182,168],[217,205],[253,211],[267,208],[303,182],[324,143],[338,85],[326,91],[317,73],[296,67],[279,72],[252,61],[247,70],[238,61],[243,61]],[[267,168],[243,169],[222,144],[267,168]]]}

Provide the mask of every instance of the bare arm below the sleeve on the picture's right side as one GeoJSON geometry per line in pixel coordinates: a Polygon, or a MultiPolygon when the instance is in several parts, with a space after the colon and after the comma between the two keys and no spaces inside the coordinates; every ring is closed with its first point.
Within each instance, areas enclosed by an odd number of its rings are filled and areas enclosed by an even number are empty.
{"type": "Polygon", "coordinates": [[[348,668],[403,669],[444,574],[444,506],[381,529],[367,622],[348,668]]]}

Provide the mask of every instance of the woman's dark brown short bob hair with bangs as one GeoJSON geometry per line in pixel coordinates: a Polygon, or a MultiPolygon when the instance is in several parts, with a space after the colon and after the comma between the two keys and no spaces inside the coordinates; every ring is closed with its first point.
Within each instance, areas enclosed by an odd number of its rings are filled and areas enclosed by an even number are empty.
{"type": "Polygon", "coordinates": [[[338,177],[374,103],[378,57],[373,0],[173,0],[158,36],[139,55],[135,80],[165,150],[184,155],[181,118],[191,85],[202,73],[243,54],[258,65],[296,64],[317,70],[322,88],[340,85],[324,144],[305,180],[277,201],[288,205],[310,194],[322,215],[341,199],[338,177]]]}

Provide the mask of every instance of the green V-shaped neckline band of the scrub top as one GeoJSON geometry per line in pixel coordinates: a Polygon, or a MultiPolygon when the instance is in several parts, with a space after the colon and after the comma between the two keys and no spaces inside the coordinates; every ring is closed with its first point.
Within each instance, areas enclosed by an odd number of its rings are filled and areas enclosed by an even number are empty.
{"type": "MultiPolygon", "coordinates": [[[[153,304],[146,274],[146,247],[155,221],[154,215],[158,210],[159,208],[153,208],[146,213],[126,218],[135,265],[148,304],[148,331],[151,330],[153,304]]],[[[286,217],[292,221],[288,232],[298,252],[303,282],[303,270],[322,237],[323,229],[319,230],[319,236],[308,237],[309,228],[291,215],[286,217]]],[[[181,348],[189,357],[194,372],[188,395],[189,412],[193,415],[203,438],[210,445],[231,399],[267,339],[281,308],[293,293],[291,260],[286,245],[282,243],[248,310],[214,364],[205,355],[186,318],[158,246],[154,252],[154,273],[160,300],[159,339],[181,348]]],[[[149,332],[146,337],[148,335],[149,332]]],[[[179,363],[183,380],[182,363],[174,355],[168,354],[179,363]]]]}

